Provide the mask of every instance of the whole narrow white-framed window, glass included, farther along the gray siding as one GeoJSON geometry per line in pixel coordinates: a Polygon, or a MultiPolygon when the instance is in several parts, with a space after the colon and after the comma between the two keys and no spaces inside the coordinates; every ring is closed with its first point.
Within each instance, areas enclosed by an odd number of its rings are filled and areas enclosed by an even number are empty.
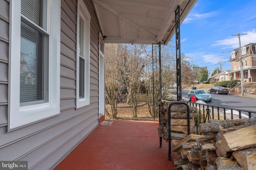
{"type": "Polygon", "coordinates": [[[90,20],[91,16],[82,0],[77,6],[76,34],[76,108],[90,104],[90,20]],[[84,26],[80,25],[80,21],[84,26]],[[80,36],[80,34],[82,34],[80,36]],[[80,47],[82,46],[82,47],[80,47]],[[84,65],[80,65],[81,62],[84,65]]]}

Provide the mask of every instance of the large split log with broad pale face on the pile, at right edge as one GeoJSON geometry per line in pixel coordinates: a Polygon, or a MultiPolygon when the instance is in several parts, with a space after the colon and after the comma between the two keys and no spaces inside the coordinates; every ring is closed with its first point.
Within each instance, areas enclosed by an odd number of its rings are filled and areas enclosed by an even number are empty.
{"type": "Polygon", "coordinates": [[[224,133],[221,137],[226,152],[255,147],[256,125],[224,133]]]}

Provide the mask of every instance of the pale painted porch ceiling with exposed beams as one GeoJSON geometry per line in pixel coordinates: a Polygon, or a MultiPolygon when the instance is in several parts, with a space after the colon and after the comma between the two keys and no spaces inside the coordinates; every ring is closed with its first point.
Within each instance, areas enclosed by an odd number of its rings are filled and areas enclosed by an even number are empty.
{"type": "Polygon", "coordinates": [[[167,44],[197,0],[93,0],[105,43],[167,44]]]}

